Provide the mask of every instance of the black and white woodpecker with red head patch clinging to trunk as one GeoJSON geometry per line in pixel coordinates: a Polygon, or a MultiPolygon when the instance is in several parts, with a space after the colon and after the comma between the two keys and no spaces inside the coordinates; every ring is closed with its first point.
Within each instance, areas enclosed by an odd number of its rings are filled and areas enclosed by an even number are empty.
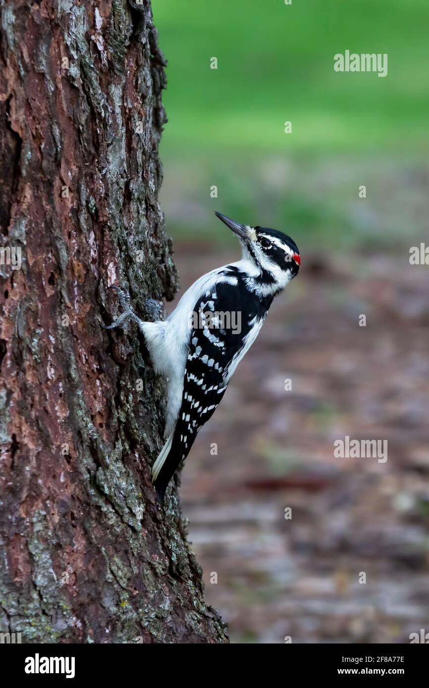
{"type": "Polygon", "coordinates": [[[160,305],[146,302],[154,322],[140,320],[129,294],[118,294],[123,313],[105,330],[138,324],[151,362],[167,378],[165,444],[152,466],[158,502],[202,426],[211,418],[244,354],[258,336],[276,294],[297,275],[300,252],[288,235],[240,224],[216,213],[240,240],[242,259],[207,272],[160,320],[160,305]]]}

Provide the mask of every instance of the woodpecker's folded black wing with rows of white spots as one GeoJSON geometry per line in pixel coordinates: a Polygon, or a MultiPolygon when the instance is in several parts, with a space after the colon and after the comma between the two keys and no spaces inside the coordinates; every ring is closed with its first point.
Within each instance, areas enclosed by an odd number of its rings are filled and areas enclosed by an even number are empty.
{"type": "Polygon", "coordinates": [[[265,305],[251,297],[244,284],[240,288],[240,280],[238,284],[218,282],[196,303],[193,324],[198,326],[192,327],[189,335],[182,405],[171,449],[155,482],[161,499],[178,464],[189,454],[198,431],[218,407],[231,369],[249,348],[253,332],[258,332],[265,314],[265,305]]]}

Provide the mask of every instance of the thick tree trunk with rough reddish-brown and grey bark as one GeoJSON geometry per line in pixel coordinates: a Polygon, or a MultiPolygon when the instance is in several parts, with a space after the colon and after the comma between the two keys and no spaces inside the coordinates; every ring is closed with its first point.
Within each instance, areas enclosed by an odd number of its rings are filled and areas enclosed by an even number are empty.
{"type": "Polygon", "coordinates": [[[223,643],[162,446],[163,380],[107,287],[171,299],[157,195],[165,61],[149,0],[1,0],[0,632],[223,643]],[[7,262],[7,261],[6,261],[7,262]],[[140,384],[138,382],[140,380],[140,384]]]}

